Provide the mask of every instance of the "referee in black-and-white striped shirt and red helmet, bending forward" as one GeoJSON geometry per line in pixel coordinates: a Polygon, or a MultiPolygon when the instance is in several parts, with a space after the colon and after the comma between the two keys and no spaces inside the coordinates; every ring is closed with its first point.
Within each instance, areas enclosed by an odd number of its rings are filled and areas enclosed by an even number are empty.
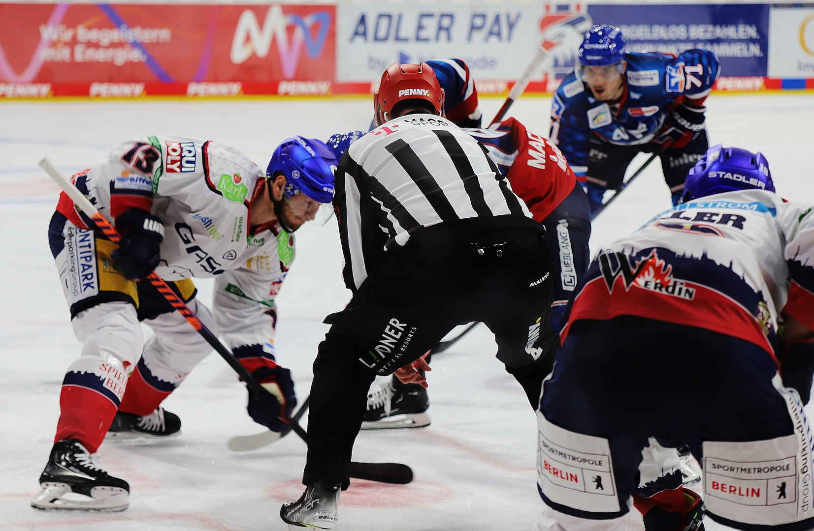
{"type": "Polygon", "coordinates": [[[393,63],[375,98],[379,128],[336,170],[334,208],[353,292],[331,314],[313,364],[302,497],[288,524],[334,529],[350,485],[367,391],[458,324],[482,321],[497,359],[536,404],[558,337],[549,324],[545,229],[478,141],[441,117],[444,92],[426,63],[393,63]]]}

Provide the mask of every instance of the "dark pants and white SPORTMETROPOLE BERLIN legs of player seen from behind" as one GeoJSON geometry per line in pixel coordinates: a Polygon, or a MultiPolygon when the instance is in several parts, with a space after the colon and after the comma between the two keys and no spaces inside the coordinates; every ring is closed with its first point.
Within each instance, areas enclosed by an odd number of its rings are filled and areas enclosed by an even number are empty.
{"type": "MultiPolygon", "coordinates": [[[[540,531],[624,529],[652,441],[689,445],[713,520],[748,531],[814,528],[803,404],[750,342],[636,316],[576,321],[537,420],[548,506],[540,531]]],[[[641,494],[657,494],[656,483],[645,486],[641,494]]]]}

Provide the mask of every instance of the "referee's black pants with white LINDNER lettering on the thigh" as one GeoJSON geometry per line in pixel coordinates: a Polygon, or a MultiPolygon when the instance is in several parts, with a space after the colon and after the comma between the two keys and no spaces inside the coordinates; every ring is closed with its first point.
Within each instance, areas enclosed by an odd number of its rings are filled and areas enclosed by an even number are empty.
{"type": "MultiPolygon", "coordinates": [[[[416,235],[418,236],[418,235],[416,235]]],[[[481,321],[497,359],[534,407],[558,337],[548,313],[551,255],[542,234],[510,229],[390,251],[331,324],[313,363],[308,462],[303,483],[350,485],[353,442],[370,383],[430,350],[458,324],[481,321]]]]}

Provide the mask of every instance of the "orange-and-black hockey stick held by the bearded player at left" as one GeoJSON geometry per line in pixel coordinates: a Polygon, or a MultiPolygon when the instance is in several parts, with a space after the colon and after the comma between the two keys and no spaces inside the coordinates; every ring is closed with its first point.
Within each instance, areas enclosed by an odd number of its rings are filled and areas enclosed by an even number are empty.
{"type": "MultiPolygon", "coordinates": [[[[55,168],[54,164],[50,162],[48,157],[43,157],[39,165],[40,168],[45,170],[46,173],[48,173],[48,175],[50,175],[50,177],[56,182],[56,184],[59,185],[59,188],[63,189],[65,194],[68,194],[68,197],[72,199],[74,205],[76,205],[81,211],[85,212],[85,215],[90,217],[90,220],[96,224],[97,228],[100,229],[111,242],[120,242],[121,238],[119,233],[117,233],[112,224],[107,221],[107,218],[99,213],[96,207],[94,207],[94,205],[90,202],[90,199],[86,198],[85,195],[82,194],[71,181],[66,179],[65,176],[63,176],[62,173],[55,168]]],[[[226,363],[229,363],[230,367],[234,369],[234,372],[237,372],[238,376],[240,376],[241,379],[246,382],[247,387],[252,390],[252,393],[256,395],[270,395],[269,391],[260,385],[251,374],[249,374],[246,368],[243,367],[243,365],[241,365],[240,362],[234,358],[234,355],[232,355],[232,353],[227,350],[225,346],[223,346],[217,337],[215,337],[215,334],[206,328],[206,325],[204,325],[204,323],[198,319],[198,316],[195,316],[195,313],[186,306],[186,303],[182,301],[182,299],[179,298],[172,289],[170,289],[167,283],[164,282],[164,280],[161,279],[161,277],[158,276],[155,271],[151,272],[147,276],[147,280],[155,286],[155,289],[158,289],[160,294],[164,295],[167,302],[173,305],[178,313],[180,313],[182,317],[192,325],[192,328],[197,330],[201,337],[204,337],[206,342],[208,342],[209,345],[212,346],[212,348],[216,350],[223,359],[226,360],[226,363]]],[[[300,409],[303,410],[304,408],[300,409]]],[[[304,437],[304,439],[307,437],[304,436],[305,432],[302,428],[300,428],[300,424],[296,422],[292,423],[291,429],[294,429],[295,432],[300,434],[300,437],[304,437]]],[[[378,472],[372,474],[374,477],[367,475],[367,477],[364,478],[370,479],[371,481],[382,481],[383,483],[405,483],[404,480],[406,477],[406,472],[409,471],[409,477],[411,479],[413,476],[413,471],[410,470],[410,468],[405,464],[367,463],[365,465],[369,466],[370,470],[373,472],[378,472]]]]}

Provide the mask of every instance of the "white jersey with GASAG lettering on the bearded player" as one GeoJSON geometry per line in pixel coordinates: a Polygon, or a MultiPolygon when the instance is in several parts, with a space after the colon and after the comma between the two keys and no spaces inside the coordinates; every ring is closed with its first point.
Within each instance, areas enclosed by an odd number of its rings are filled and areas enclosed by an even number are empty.
{"type": "MultiPolygon", "coordinates": [[[[250,233],[252,200],[264,180],[239,151],[184,137],[122,142],[106,162],[75,176],[108,220],[133,207],[162,220],[155,271],[165,281],[217,279],[213,310],[233,348],[270,343],[274,296],[295,255],[293,235],[277,224],[250,233]]],[[[66,196],[58,210],[81,223],[66,196]]]]}

